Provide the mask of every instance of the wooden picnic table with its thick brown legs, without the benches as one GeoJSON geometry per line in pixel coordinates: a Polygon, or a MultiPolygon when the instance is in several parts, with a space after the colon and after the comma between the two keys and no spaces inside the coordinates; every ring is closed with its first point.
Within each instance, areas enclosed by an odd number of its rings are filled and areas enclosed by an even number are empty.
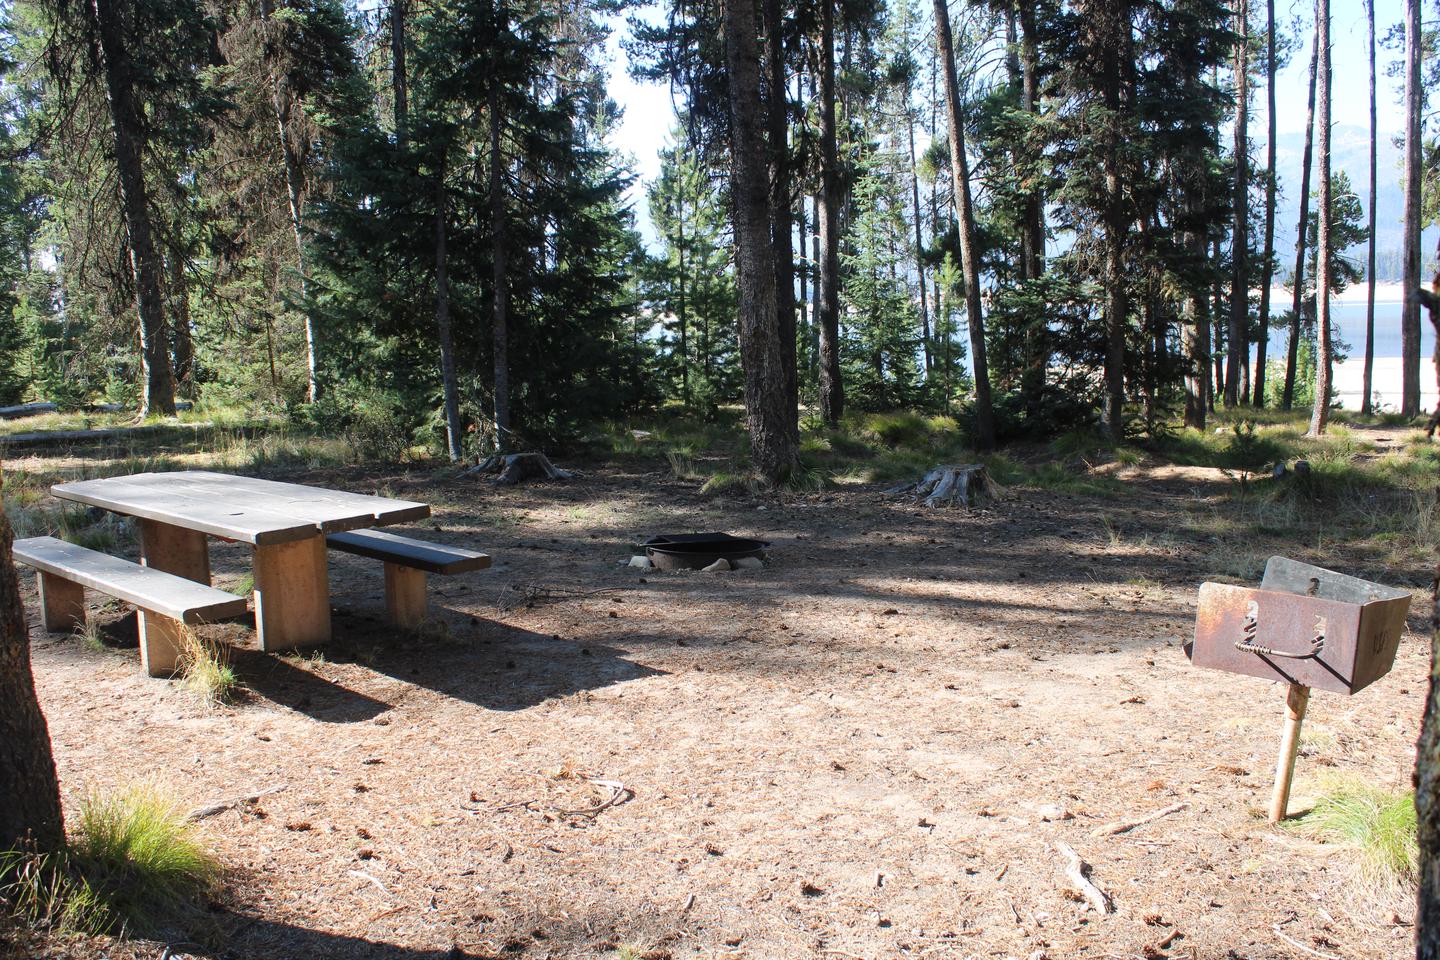
{"type": "Polygon", "coordinates": [[[197,583],[210,583],[207,535],[251,544],[262,651],[330,639],[325,534],[431,515],[413,501],[209,471],[56,484],[50,492],[135,517],[141,563],[197,583]]]}

